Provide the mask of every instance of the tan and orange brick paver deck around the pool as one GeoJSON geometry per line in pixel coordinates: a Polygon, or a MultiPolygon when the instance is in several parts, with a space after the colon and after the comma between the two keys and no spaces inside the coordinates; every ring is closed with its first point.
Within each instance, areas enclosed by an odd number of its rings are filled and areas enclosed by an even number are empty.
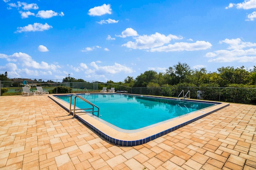
{"type": "Polygon", "coordinates": [[[230,104],[146,144],[108,143],[44,96],[0,96],[0,170],[256,170],[256,106],[230,104]]]}

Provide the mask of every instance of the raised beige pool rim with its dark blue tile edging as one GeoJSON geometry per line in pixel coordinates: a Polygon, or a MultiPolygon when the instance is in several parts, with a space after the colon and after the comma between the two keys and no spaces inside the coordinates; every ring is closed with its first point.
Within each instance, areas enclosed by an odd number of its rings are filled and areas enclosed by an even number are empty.
{"type": "MultiPolygon", "coordinates": [[[[60,94],[60,95],[70,95],[70,94],[60,94]]],[[[134,95],[134,94],[126,94],[126,95],[134,95]]],[[[59,104],[62,108],[64,108],[69,113],[69,107],[70,107],[69,104],[67,102],[60,100],[59,98],[56,98],[55,96],[57,95],[49,95],[48,97],[51,98],[57,104],[59,104]]],[[[135,95],[135,96],[148,96],[148,95],[135,95]]],[[[148,96],[148,97],[174,99],[174,98],[163,97],[163,96],[148,96]]],[[[213,103],[217,105],[207,107],[206,109],[201,109],[199,111],[195,111],[192,114],[179,117],[178,119],[168,121],[166,123],[163,123],[154,127],[149,127],[148,129],[144,129],[142,131],[135,132],[135,133],[120,132],[102,123],[101,121],[95,119],[94,117],[91,117],[88,114],[75,115],[75,118],[111,143],[114,143],[120,146],[136,146],[136,145],[142,145],[158,137],[166,135],[167,133],[170,133],[172,131],[179,129],[180,127],[188,125],[198,119],[201,119],[202,117],[205,117],[215,111],[218,111],[226,106],[229,106],[229,103],[216,102],[216,101],[210,102],[205,100],[191,100],[191,99],[189,99],[188,101],[206,102],[206,103],[213,103]]]]}

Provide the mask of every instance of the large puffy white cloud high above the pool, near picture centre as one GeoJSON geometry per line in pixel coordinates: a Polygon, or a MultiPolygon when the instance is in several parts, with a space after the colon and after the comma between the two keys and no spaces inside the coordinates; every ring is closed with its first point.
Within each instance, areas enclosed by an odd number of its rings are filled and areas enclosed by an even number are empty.
{"type": "Polygon", "coordinates": [[[155,33],[152,35],[142,35],[138,36],[135,39],[134,42],[128,41],[126,44],[123,44],[122,46],[125,46],[127,48],[132,49],[150,49],[154,47],[160,47],[166,43],[169,43],[172,39],[182,39],[183,37],[177,37],[176,35],[169,34],[167,36],[155,33]]]}

